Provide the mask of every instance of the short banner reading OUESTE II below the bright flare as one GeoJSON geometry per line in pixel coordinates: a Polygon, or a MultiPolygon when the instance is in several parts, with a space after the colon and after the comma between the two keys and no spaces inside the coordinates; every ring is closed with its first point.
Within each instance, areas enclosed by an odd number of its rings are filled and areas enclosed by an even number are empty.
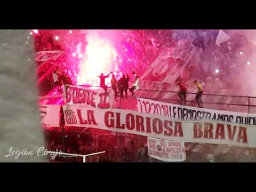
{"type": "Polygon", "coordinates": [[[113,98],[102,89],[93,90],[79,85],[65,85],[63,93],[64,102],[68,105],[102,109],[111,108],[113,105],[113,98]]]}

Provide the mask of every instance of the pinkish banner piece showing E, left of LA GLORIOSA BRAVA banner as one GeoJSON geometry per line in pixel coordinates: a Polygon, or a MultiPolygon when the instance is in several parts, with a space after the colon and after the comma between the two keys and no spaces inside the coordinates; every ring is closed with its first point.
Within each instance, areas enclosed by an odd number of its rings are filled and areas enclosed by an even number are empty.
{"type": "Polygon", "coordinates": [[[43,126],[60,126],[60,105],[40,105],[39,112],[43,126]]]}

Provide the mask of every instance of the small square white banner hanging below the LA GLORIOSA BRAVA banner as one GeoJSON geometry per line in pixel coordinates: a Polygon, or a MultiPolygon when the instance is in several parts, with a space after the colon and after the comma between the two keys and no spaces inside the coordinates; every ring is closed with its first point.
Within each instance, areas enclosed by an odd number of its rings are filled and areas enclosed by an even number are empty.
{"type": "Polygon", "coordinates": [[[148,155],[165,162],[182,162],[186,160],[184,142],[148,138],[148,155]]]}

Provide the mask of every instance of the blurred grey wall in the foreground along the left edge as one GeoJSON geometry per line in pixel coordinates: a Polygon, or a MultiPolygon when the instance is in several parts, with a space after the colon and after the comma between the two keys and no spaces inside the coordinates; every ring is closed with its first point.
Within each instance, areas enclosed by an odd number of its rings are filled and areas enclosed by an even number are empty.
{"type": "Polygon", "coordinates": [[[0,162],[46,162],[36,155],[44,138],[30,31],[0,30],[0,162]],[[33,150],[34,155],[6,158],[11,147],[33,150]]]}

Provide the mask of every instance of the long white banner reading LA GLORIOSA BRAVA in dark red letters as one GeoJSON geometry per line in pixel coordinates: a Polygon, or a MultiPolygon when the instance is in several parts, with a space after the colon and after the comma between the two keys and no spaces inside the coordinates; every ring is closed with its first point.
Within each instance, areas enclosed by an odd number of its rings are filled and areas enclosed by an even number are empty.
{"type": "Polygon", "coordinates": [[[123,109],[63,106],[67,126],[142,135],[181,142],[202,142],[256,147],[255,126],[212,119],[178,120],[123,109]]]}

